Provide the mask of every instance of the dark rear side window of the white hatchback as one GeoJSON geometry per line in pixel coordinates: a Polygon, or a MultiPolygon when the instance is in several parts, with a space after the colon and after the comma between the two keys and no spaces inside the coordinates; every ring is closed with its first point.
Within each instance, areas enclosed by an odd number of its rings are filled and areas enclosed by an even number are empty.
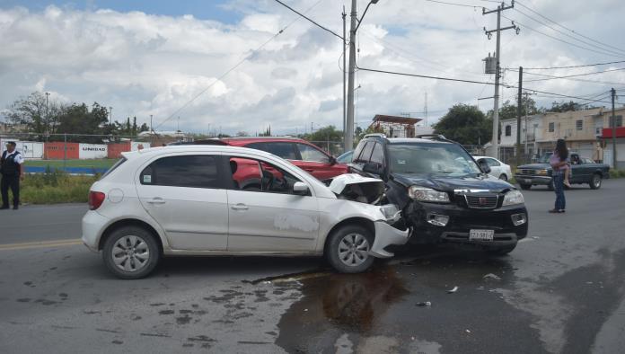
{"type": "Polygon", "coordinates": [[[180,155],[160,158],[139,176],[141,184],[190,188],[221,188],[217,157],[180,155]]]}

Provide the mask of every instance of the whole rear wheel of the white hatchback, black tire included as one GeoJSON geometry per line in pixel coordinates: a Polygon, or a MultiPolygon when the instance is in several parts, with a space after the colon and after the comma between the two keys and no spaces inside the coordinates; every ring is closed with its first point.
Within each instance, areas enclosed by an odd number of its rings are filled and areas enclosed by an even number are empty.
{"type": "Polygon", "coordinates": [[[160,259],[161,252],[154,235],[140,226],[125,226],[113,231],[102,248],[102,261],[120,279],[145,278],[160,259]]]}

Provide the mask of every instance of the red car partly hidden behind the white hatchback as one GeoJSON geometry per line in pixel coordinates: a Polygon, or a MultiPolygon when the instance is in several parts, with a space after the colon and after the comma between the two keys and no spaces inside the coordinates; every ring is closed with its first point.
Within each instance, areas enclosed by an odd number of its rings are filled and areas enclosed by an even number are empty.
{"type": "Polygon", "coordinates": [[[338,164],[334,156],[304,139],[295,137],[226,137],[199,140],[195,144],[224,144],[266,151],[290,161],[321,181],[348,173],[347,164],[338,164]]]}

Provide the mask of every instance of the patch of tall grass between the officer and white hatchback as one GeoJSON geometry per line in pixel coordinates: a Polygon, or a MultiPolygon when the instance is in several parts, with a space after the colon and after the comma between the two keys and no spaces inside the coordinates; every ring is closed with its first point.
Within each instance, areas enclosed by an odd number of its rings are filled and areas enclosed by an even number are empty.
{"type": "Polygon", "coordinates": [[[29,204],[86,203],[99,176],[72,176],[56,170],[30,174],[21,183],[20,199],[29,204]]]}

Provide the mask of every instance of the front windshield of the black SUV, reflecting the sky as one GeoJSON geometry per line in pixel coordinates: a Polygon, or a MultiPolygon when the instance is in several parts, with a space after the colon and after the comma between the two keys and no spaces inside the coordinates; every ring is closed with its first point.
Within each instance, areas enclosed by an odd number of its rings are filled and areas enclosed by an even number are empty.
{"type": "Polygon", "coordinates": [[[393,173],[453,176],[481,173],[471,155],[455,144],[390,144],[388,149],[393,173]]]}

